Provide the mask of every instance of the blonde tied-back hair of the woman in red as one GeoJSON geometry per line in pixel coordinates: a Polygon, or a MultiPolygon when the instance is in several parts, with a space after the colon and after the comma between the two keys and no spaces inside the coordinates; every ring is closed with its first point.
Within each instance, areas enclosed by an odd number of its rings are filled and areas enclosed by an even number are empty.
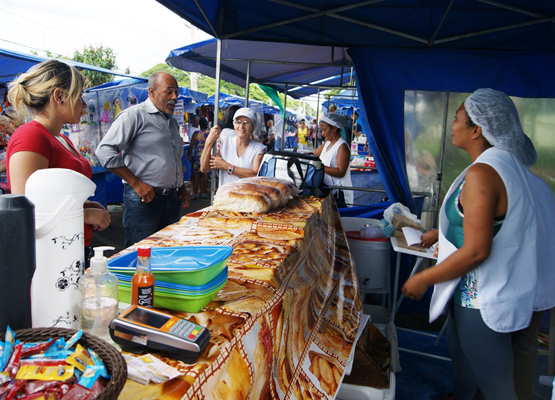
{"type": "Polygon", "coordinates": [[[8,95],[17,111],[27,109],[37,114],[46,107],[56,89],[62,90],[70,107],[74,107],[86,85],[87,78],[74,67],[58,60],[47,60],[11,82],[8,95]]]}

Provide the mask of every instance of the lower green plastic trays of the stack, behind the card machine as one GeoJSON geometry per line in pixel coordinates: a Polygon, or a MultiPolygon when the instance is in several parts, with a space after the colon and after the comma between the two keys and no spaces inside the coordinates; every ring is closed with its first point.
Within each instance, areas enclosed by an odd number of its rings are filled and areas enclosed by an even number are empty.
{"type": "MultiPolygon", "coordinates": [[[[227,282],[227,268],[206,285],[187,287],[188,290],[166,289],[154,285],[154,307],[183,312],[198,312],[210,303],[227,282]]],[[[131,303],[131,284],[118,282],[119,301],[131,303]]]]}

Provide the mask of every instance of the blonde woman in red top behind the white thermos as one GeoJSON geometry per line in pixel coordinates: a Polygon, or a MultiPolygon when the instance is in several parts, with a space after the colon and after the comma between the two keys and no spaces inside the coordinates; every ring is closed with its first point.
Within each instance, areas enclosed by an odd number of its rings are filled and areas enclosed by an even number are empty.
{"type": "MultiPolygon", "coordinates": [[[[44,61],[10,83],[9,97],[19,112],[33,120],[16,129],[8,143],[6,165],[13,194],[25,194],[31,174],[45,168],[67,168],[92,177],[89,161],[61,134],[65,124],[78,124],[86,106],[86,78],[77,69],[57,60],[44,61]]],[[[110,214],[97,202],[84,204],[85,264],[90,258],[93,230],[104,230],[110,214]]]]}

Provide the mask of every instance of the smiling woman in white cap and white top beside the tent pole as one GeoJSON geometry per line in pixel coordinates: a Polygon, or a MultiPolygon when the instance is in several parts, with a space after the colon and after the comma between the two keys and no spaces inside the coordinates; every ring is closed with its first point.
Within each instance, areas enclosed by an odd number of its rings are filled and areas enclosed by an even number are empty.
{"type": "Polygon", "coordinates": [[[233,116],[236,136],[221,136],[221,130],[215,125],[206,138],[206,144],[200,159],[201,172],[219,170],[220,186],[256,176],[266,146],[251,140],[251,135],[258,124],[256,113],[250,108],[240,108],[233,116]],[[220,150],[213,156],[212,147],[221,139],[220,150]]]}

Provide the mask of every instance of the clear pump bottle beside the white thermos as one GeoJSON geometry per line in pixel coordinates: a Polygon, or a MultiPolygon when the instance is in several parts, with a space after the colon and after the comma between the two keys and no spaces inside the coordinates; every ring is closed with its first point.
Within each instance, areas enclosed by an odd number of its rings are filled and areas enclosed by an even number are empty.
{"type": "Polygon", "coordinates": [[[105,250],[113,247],[94,248],[91,267],[81,278],[79,316],[81,329],[112,343],[108,327],[118,315],[118,278],[108,272],[105,250]]]}

